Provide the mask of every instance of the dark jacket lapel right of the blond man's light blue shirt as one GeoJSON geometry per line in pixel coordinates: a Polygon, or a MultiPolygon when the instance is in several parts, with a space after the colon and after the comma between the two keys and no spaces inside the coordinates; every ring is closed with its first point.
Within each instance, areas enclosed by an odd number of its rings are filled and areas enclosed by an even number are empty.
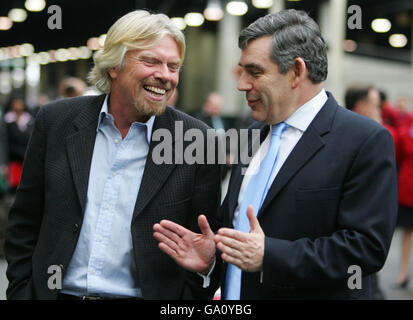
{"type": "MultiPolygon", "coordinates": [[[[156,117],[155,123],[152,129],[153,132],[157,129],[166,129],[172,134],[172,155],[175,155],[174,146],[177,140],[183,140],[180,135],[175,135],[175,121],[169,110],[166,110],[162,115],[156,117]]],[[[152,200],[152,198],[159,192],[163,184],[168,179],[172,170],[175,168],[174,161],[173,164],[155,164],[152,160],[152,151],[161,141],[153,141],[151,139],[151,144],[149,146],[148,156],[146,158],[145,170],[143,172],[142,182],[139,189],[138,197],[135,204],[135,210],[133,217],[136,218],[146,205],[152,200]]]]}

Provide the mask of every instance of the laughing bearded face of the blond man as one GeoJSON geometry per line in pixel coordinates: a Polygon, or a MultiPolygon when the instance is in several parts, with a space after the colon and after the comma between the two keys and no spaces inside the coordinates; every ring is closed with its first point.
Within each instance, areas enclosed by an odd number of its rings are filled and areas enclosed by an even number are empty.
{"type": "Polygon", "coordinates": [[[151,49],[130,50],[123,68],[109,70],[111,94],[141,116],[160,115],[178,85],[181,63],[178,45],[171,36],[151,49]]]}

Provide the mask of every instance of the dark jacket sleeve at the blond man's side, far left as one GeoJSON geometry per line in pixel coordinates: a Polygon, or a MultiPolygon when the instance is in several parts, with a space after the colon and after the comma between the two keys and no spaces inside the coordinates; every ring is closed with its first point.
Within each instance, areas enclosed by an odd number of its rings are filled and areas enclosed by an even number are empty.
{"type": "Polygon", "coordinates": [[[44,206],[44,110],[36,118],[26,150],[23,172],[6,226],[4,251],[8,299],[31,299],[32,255],[37,243],[44,206]]]}

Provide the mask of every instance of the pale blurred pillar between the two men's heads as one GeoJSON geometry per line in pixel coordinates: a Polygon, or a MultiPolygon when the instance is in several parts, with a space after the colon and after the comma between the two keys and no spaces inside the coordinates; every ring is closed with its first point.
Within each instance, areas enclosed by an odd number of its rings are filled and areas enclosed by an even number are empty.
{"type": "Polygon", "coordinates": [[[237,90],[234,73],[240,57],[240,30],[241,18],[225,13],[218,25],[217,91],[224,99],[222,113],[226,115],[236,115],[242,110],[243,95],[237,90]]]}

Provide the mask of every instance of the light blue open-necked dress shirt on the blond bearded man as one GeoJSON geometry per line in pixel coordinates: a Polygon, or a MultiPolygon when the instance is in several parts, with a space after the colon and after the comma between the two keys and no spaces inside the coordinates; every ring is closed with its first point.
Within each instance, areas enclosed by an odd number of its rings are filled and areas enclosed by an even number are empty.
{"type": "Polygon", "coordinates": [[[86,209],[62,293],[141,297],[136,283],[131,221],[155,117],[132,123],[122,140],[106,97],[98,121],[86,209]]]}

